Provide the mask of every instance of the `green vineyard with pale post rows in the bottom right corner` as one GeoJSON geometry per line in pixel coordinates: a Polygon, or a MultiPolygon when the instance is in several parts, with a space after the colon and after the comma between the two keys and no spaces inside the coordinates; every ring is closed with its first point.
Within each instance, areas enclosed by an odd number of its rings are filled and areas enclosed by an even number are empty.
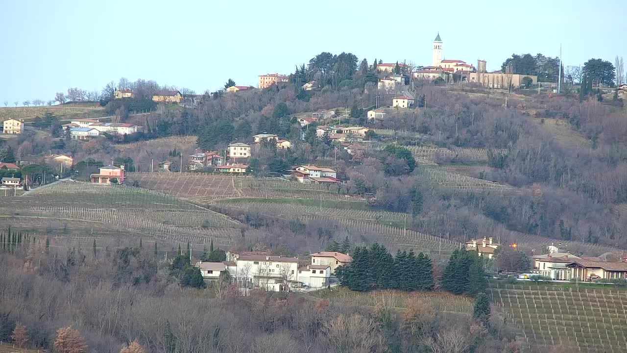
{"type": "Polygon", "coordinates": [[[522,329],[531,352],[561,345],[577,352],[627,351],[627,291],[552,286],[490,288],[492,301],[522,329]]]}

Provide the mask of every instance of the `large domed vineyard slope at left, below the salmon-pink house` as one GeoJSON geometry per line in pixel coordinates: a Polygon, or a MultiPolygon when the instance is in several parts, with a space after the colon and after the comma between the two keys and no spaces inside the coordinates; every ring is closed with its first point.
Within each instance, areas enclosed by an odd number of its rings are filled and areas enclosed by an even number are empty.
{"type": "Polygon", "coordinates": [[[135,234],[229,246],[241,224],[162,193],[126,187],[62,182],[21,197],[3,198],[0,227],[73,234],[135,234]]]}

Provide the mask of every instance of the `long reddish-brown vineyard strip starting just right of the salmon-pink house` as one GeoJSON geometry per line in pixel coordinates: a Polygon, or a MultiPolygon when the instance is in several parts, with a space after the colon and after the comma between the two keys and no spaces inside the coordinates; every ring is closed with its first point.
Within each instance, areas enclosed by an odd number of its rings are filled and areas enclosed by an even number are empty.
{"type": "Polygon", "coordinates": [[[176,195],[189,200],[209,201],[216,198],[322,198],[324,200],[354,199],[314,183],[298,183],[282,178],[253,178],[201,173],[129,173],[127,179],[140,187],[176,195]]]}

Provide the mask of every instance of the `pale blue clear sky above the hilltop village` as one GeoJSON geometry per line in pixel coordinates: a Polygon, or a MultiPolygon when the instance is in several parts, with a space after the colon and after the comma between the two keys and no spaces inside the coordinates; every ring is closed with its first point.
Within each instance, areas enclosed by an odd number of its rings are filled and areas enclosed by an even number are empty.
{"type": "Polygon", "coordinates": [[[438,32],[444,58],[487,60],[488,70],[512,53],[556,57],[560,43],[564,65],[627,57],[627,37],[612,25],[627,1],[562,3],[0,1],[0,106],[68,87],[100,91],[120,77],[198,94],[229,78],[256,86],[258,75],[293,72],[320,52],[430,65],[438,32]]]}

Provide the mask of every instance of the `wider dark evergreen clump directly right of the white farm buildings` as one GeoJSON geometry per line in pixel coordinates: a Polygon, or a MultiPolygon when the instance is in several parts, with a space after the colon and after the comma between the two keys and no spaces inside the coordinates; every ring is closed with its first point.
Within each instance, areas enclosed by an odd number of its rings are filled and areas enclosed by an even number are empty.
{"type": "Polygon", "coordinates": [[[353,261],[335,269],[342,285],[351,290],[375,289],[430,290],[433,288],[431,259],[423,253],[417,256],[413,250],[398,251],[396,256],[386,247],[355,247],[353,261]]]}

